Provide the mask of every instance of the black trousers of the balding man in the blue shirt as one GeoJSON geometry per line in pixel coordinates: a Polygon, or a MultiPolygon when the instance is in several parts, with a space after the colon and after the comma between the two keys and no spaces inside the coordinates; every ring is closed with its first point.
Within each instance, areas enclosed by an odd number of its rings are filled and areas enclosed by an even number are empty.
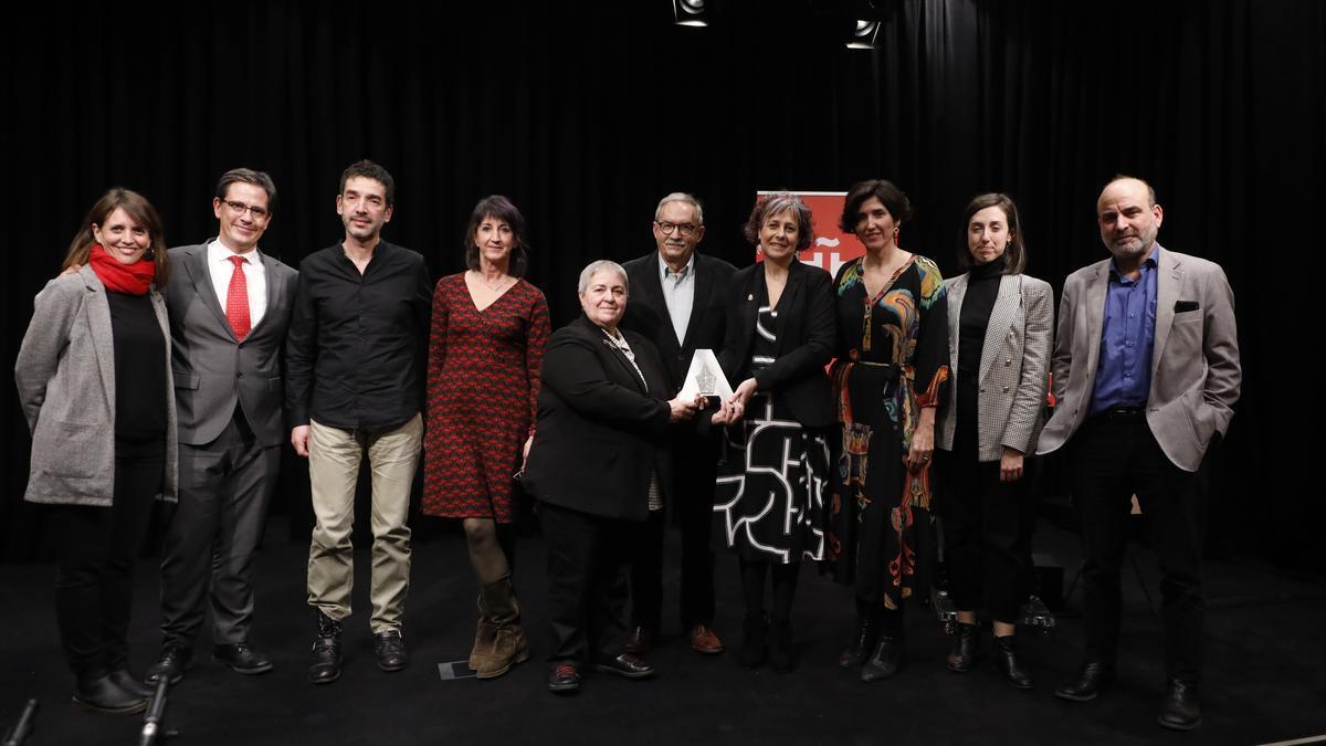
{"type": "Polygon", "coordinates": [[[1122,609],[1119,565],[1136,494],[1160,560],[1166,674],[1196,681],[1201,668],[1201,550],[1205,485],[1160,450],[1146,417],[1094,417],[1073,437],[1074,496],[1082,516],[1087,656],[1114,662],[1122,609]]]}

